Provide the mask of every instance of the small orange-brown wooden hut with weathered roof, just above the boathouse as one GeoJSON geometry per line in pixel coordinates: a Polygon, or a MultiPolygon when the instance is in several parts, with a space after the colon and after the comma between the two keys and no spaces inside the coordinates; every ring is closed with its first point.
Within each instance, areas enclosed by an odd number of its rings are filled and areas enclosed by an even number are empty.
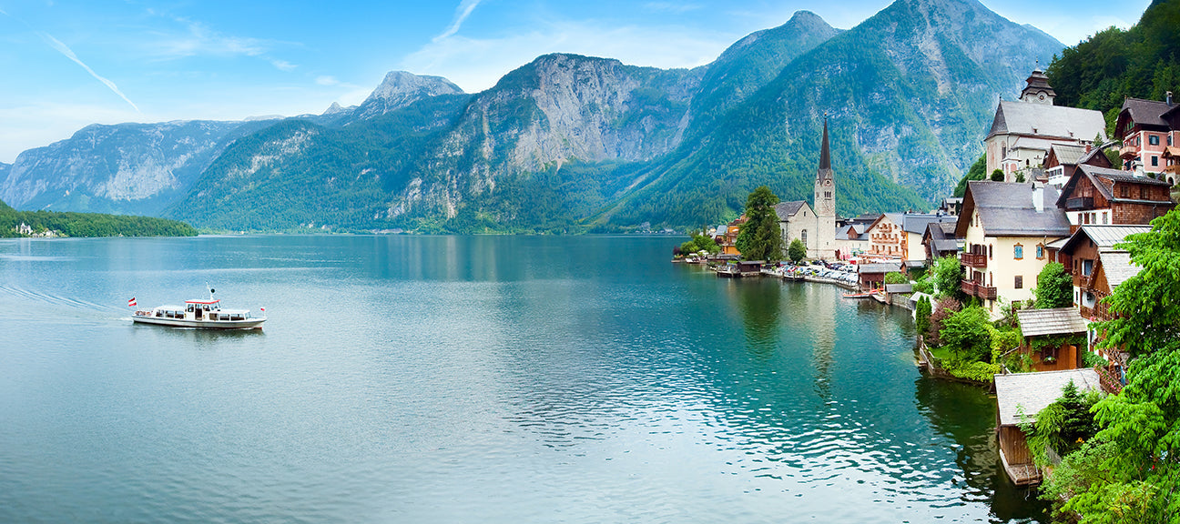
{"type": "Polygon", "coordinates": [[[1083,345],[1047,343],[1061,336],[1076,335],[1081,341],[1089,333],[1089,322],[1075,308],[1022,309],[1016,312],[1024,343],[1021,348],[1032,359],[1032,371],[1076,369],[1083,366],[1083,345]],[[1041,343],[1037,343],[1041,342],[1041,343]]]}

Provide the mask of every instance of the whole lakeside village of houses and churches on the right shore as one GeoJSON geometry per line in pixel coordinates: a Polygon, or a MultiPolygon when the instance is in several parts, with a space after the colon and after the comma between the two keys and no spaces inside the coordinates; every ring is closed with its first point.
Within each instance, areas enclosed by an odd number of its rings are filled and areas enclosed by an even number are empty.
{"type": "Polygon", "coordinates": [[[1040,484],[1077,446],[1054,433],[1066,447],[1054,448],[1036,434],[1044,433],[1037,414],[1087,394],[1088,408],[1127,384],[1132,355],[1101,345],[1094,325],[1114,317],[1104,299],[1141,270],[1121,244],[1175,208],[1180,178],[1180,106],[1171,92],[1127,98],[1109,137],[1101,112],[1054,99],[1036,70],[1020,99],[999,100],[984,139],[986,178],[966,182],[962,197],[932,212],[839,216],[825,119],[812,204],[773,204],[781,255],[741,253],[749,205],[702,231],[715,248],[678,255],[709,263],[717,276],[828,282],[848,289],[845,297],[913,310],[919,363],[994,387],[1004,470],[1016,485],[1040,484]],[[975,328],[983,346],[964,340],[969,322],[951,321],[961,309],[986,325],[975,328]]]}

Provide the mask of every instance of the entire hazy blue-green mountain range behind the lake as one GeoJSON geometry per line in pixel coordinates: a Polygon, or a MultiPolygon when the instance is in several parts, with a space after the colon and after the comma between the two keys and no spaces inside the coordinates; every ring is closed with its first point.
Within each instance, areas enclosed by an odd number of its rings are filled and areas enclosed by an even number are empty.
{"type": "Polygon", "coordinates": [[[320,116],[92,125],[0,164],[0,199],[225,229],[699,225],[761,184],[809,199],[827,113],[838,212],[929,208],[1063,47],[975,0],[848,31],[799,12],[694,70],[549,54],[476,94],[392,72],[320,116]]]}

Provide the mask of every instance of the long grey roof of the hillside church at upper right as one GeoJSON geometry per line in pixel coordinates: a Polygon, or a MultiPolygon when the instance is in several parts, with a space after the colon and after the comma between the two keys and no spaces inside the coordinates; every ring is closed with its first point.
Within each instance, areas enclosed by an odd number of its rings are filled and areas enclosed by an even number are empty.
{"type": "Polygon", "coordinates": [[[1099,135],[1106,137],[1106,120],[1094,110],[999,100],[988,138],[996,135],[1093,140],[1099,135]]]}

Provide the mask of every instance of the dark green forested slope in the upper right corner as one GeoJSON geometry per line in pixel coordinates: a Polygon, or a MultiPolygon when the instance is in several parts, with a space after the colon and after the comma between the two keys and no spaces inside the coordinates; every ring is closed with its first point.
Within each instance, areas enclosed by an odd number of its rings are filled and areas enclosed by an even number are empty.
{"type": "Polygon", "coordinates": [[[1102,111],[1113,133],[1125,98],[1180,94],[1180,0],[1155,0],[1129,30],[1110,27],[1067,47],[1045,74],[1057,105],[1102,111]]]}

